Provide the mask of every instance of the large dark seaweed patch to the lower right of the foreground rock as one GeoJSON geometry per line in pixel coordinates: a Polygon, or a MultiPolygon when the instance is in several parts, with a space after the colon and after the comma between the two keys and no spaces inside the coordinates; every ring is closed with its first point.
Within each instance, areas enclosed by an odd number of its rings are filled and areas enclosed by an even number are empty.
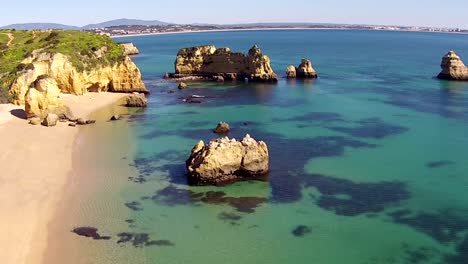
{"type": "Polygon", "coordinates": [[[318,206],[344,216],[382,212],[386,206],[410,196],[401,182],[356,183],[312,174],[304,177],[304,183],[322,194],[317,199],[318,206]]]}

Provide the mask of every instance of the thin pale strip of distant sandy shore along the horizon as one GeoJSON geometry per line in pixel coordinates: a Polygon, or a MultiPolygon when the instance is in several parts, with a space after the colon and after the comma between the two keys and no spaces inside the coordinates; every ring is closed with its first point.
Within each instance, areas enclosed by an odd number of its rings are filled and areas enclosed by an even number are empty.
{"type": "Polygon", "coordinates": [[[387,30],[387,29],[355,29],[355,28],[243,28],[243,29],[214,29],[214,30],[186,30],[174,32],[157,32],[157,33],[142,33],[142,34],[128,34],[128,35],[111,35],[113,39],[128,38],[128,37],[142,37],[142,36],[158,36],[158,35],[178,35],[189,33],[209,33],[209,32],[244,32],[244,31],[289,31],[289,30],[335,30],[335,31],[385,31],[385,32],[413,32],[413,33],[438,33],[438,34],[459,34],[468,35],[465,32],[431,32],[431,31],[415,31],[415,30],[387,30]]]}

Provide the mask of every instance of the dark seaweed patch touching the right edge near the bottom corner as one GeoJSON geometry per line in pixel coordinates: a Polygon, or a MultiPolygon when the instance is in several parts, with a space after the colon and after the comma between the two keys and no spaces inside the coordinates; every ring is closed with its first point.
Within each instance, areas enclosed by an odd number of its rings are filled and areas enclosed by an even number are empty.
{"type": "Polygon", "coordinates": [[[417,214],[409,210],[399,210],[390,213],[389,216],[394,222],[408,225],[442,243],[456,241],[461,233],[468,230],[468,220],[448,210],[417,214]]]}

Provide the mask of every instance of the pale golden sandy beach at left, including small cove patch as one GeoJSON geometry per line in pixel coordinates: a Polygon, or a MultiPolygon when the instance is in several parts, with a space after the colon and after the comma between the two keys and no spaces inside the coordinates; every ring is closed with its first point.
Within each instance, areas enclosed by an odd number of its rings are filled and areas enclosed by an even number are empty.
{"type": "MultiPolygon", "coordinates": [[[[123,98],[125,94],[63,95],[77,117],[123,98]]],[[[74,139],[80,129],[29,125],[24,106],[0,105],[0,259],[3,264],[41,263],[48,224],[72,168],[74,139]]]]}

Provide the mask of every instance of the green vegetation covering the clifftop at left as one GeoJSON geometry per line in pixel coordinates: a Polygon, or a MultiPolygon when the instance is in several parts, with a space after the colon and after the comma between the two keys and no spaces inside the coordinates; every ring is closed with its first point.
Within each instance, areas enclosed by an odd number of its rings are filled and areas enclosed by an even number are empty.
{"type": "Polygon", "coordinates": [[[107,36],[76,30],[0,30],[0,103],[8,99],[8,87],[21,64],[33,51],[62,53],[78,71],[115,64],[124,58],[124,48],[107,36]]]}

